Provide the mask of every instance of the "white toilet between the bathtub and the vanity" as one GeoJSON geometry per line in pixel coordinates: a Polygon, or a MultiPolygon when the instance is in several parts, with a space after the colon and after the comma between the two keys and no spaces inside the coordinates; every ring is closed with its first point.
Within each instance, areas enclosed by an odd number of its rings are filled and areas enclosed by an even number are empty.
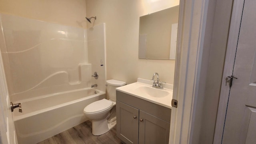
{"type": "Polygon", "coordinates": [[[126,85],[119,80],[107,80],[107,99],[92,102],[84,108],[84,114],[92,120],[92,134],[104,134],[116,126],[116,88],[126,85]]]}

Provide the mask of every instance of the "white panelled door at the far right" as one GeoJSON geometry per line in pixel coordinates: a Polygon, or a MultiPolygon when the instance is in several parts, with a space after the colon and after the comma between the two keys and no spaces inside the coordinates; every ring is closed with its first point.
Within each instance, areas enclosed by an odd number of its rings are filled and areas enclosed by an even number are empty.
{"type": "Polygon", "coordinates": [[[256,1],[245,0],[222,144],[256,144],[256,1]]]}

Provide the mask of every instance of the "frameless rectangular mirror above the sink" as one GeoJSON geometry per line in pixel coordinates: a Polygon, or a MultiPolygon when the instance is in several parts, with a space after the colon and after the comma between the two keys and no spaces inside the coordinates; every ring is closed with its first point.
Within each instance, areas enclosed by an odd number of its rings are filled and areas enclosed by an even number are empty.
{"type": "Polygon", "coordinates": [[[175,60],[179,6],[140,17],[139,58],[175,60]]]}

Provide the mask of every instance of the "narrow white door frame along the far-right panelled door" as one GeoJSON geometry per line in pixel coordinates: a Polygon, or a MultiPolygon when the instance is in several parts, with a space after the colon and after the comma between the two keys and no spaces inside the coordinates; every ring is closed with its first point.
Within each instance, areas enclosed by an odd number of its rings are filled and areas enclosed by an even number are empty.
{"type": "Polygon", "coordinates": [[[224,130],[224,122],[226,118],[226,110],[228,106],[229,84],[226,84],[227,76],[232,76],[234,61],[236,56],[236,48],[242,18],[242,10],[244,0],[234,0],[232,8],[232,16],[230,20],[230,29],[228,35],[228,44],[226,49],[226,57],[224,62],[224,70],[222,73],[222,83],[220,89],[220,98],[218,103],[218,112],[216,118],[214,144],[221,144],[224,130]]]}

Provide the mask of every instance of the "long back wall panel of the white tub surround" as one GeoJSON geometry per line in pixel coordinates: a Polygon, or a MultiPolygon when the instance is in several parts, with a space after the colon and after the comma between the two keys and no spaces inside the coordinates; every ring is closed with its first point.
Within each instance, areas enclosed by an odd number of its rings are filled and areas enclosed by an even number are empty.
{"type": "MultiPolygon", "coordinates": [[[[51,89],[60,92],[63,89],[58,87],[63,84],[87,85],[81,75],[79,77],[78,71],[83,69],[79,65],[88,63],[84,42],[86,37],[82,28],[8,14],[1,16],[6,44],[1,51],[4,66],[10,67],[6,69],[6,76],[12,101],[16,101],[16,95],[28,91],[34,91],[34,94],[39,90],[45,92],[51,89]]],[[[87,75],[90,76],[88,70],[87,75]]]]}

